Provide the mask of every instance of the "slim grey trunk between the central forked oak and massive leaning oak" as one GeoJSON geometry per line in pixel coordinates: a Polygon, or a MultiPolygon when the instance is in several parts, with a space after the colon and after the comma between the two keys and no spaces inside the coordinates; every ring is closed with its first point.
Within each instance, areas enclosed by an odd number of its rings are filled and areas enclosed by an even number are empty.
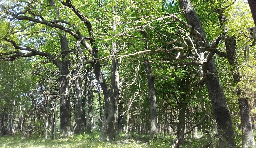
{"type": "MultiPolygon", "coordinates": [[[[146,45],[147,46],[147,45],[146,45]]],[[[148,92],[150,102],[150,139],[157,139],[157,109],[156,109],[156,94],[154,86],[154,77],[152,76],[151,65],[144,58],[145,70],[148,80],[148,92]]]]}

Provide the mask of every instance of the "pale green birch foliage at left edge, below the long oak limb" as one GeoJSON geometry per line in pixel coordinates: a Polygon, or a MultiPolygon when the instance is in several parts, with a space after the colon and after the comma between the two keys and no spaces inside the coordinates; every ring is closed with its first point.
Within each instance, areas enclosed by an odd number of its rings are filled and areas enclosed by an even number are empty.
{"type": "Polygon", "coordinates": [[[29,105],[28,93],[35,83],[31,65],[26,59],[0,63],[0,102],[2,107],[29,105]]]}

